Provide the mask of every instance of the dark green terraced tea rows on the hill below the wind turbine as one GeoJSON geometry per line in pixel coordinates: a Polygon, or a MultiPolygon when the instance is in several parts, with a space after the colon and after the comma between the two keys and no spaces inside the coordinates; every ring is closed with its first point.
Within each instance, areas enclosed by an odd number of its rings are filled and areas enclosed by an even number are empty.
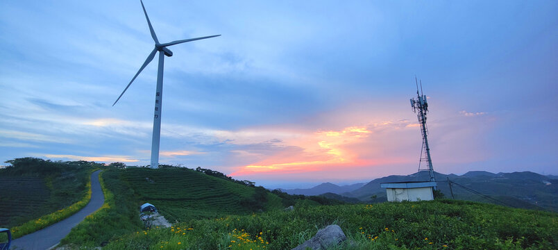
{"type": "MultiPolygon", "coordinates": [[[[137,194],[140,203],[149,202],[169,222],[251,213],[244,201],[255,194],[254,188],[192,169],[128,168],[119,171],[121,181],[137,194]]],[[[281,199],[267,192],[265,209],[281,208],[281,199]]],[[[137,206],[140,206],[140,203],[137,206]]]]}

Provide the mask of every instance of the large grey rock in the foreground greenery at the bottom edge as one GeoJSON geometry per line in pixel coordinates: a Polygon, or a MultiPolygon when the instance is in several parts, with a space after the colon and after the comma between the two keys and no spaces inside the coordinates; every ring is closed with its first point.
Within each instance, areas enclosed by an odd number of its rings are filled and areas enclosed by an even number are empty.
{"type": "Polygon", "coordinates": [[[312,237],[312,239],[307,240],[292,250],[304,250],[307,248],[312,250],[326,249],[327,247],[337,245],[346,239],[345,234],[339,226],[329,225],[326,226],[326,228],[320,229],[318,233],[312,237]]]}

